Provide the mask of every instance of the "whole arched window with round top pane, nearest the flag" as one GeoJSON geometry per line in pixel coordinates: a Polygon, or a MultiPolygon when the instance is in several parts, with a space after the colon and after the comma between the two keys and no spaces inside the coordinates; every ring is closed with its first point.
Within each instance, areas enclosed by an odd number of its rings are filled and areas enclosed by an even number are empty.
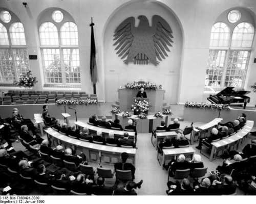
{"type": "Polygon", "coordinates": [[[80,84],[77,26],[68,13],[54,10],[39,27],[46,84],[80,84]],[[49,20],[49,19],[48,19],[49,20]]]}

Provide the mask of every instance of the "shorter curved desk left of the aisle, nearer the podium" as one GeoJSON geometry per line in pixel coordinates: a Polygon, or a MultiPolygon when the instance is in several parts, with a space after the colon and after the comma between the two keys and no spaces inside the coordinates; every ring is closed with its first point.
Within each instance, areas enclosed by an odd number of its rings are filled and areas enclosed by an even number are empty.
{"type": "MultiPolygon", "coordinates": [[[[104,138],[108,138],[109,137],[109,133],[110,131],[113,131],[115,138],[120,138],[123,136],[124,133],[126,133],[125,131],[117,131],[117,130],[112,130],[112,129],[106,129],[106,128],[101,128],[101,127],[97,127],[94,125],[90,125],[81,121],[77,121],[74,122],[75,125],[77,125],[78,127],[88,127],[88,130],[90,131],[90,134],[96,135],[98,130],[102,130],[102,136],[104,138]]],[[[127,132],[129,134],[129,138],[134,139],[135,138],[135,132],[127,132]]]]}

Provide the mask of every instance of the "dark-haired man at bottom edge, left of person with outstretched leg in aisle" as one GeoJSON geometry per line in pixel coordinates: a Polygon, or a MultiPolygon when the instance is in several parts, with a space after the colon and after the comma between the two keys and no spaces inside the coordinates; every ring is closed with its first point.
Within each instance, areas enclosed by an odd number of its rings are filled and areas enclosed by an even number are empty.
{"type": "Polygon", "coordinates": [[[112,187],[104,185],[105,179],[103,177],[98,177],[97,185],[92,186],[92,194],[94,195],[112,195],[115,185],[112,187]]]}

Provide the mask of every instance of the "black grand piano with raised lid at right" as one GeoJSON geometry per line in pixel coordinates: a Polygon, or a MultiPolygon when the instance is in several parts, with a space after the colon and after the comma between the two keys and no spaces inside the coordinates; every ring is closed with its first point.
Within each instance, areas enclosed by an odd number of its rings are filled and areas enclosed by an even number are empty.
{"type": "Polygon", "coordinates": [[[207,99],[213,104],[234,104],[234,103],[244,103],[244,109],[246,104],[250,102],[250,97],[245,94],[250,93],[250,91],[234,91],[234,87],[227,87],[217,93],[216,95],[210,95],[207,99]]]}

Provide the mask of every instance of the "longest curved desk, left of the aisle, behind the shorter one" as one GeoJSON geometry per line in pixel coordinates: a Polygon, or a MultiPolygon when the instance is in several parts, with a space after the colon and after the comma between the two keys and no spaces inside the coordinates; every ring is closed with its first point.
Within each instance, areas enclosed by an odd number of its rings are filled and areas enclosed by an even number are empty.
{"type": "Polygon", "coordinates": [[[121,161],[120,156],[122,152],[127,152],[127,154],[129,154],[127,162],[135,164],[136,149],[84,142],[62,135],[59,132],[54,131],[51,127],[45,129],[45,132],[49,135],[54,145],[62,145],[65,148],[83,152],[90,162],[114,165],[116,162],[121,161]]]}

